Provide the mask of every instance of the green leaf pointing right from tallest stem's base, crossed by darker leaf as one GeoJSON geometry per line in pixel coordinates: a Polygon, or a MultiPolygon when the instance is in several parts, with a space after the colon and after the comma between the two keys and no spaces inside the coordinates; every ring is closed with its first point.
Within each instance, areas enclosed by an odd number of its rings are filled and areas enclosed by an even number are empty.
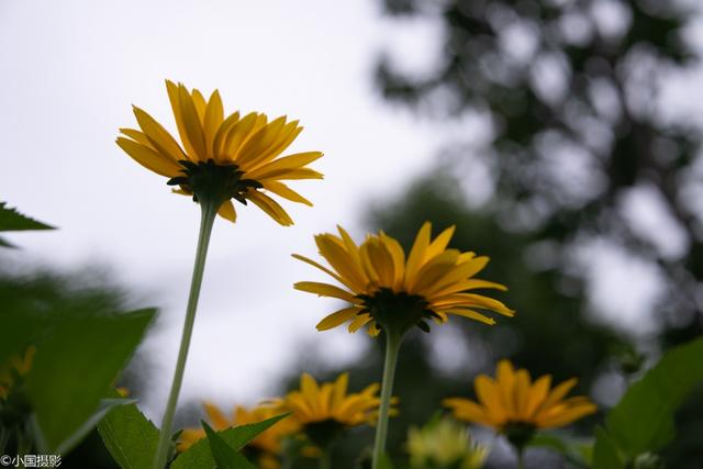
{"type": "MultiPolygon", "coordinates": [[[[244,447],[244,445],[256,438],[258,434],[266,431],[280,420],[286,418],[288,415],[290,414],[281,414],[261,422],[235,426],[220,432],[219,435],[228,446],[238,451],[244,447]]],[[[215,461],[212,458],[208,442],[200,440],[188,448],[187,451],[178,456],[171,465],[171,469],[208,468],[213,467],[214,465],[215,461]]]]}

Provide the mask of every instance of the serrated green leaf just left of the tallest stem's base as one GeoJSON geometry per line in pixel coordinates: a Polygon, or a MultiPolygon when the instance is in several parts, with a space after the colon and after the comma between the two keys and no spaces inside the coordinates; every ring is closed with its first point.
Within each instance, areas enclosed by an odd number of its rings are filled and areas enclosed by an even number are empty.
{"type": "Polygon", "coordinates": [[[98,424],[98,432],[123,469],[149,469],[159,432],[136,404],[113,409],[98,424]]]}

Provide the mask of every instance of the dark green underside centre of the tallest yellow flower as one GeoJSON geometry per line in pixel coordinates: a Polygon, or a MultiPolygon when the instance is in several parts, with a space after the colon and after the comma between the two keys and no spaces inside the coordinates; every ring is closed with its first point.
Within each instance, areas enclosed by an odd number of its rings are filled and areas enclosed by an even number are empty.
{"type": "Polygon", "coordinates": [[[183,176],[168,180],[169,186],[180,186],[186,192],[193,194],[193,201],[209,201],[221,204],[235,199],[246,205],[245,194],[254,189],[261,189],[259,181],[245,179],[244,171],[237,165],[216,165],[210,158],[207,161],[178,161],[183,176]]]}

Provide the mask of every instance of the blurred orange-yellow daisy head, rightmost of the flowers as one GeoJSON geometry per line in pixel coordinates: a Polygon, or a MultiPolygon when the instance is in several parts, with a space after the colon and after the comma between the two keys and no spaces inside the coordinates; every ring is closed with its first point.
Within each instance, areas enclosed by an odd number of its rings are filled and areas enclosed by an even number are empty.
{"type": "Polygon", "coordinates": [[[596,411],[585,397],[563,399],[576,383],[572,378],[551,389],[549,375],[533,383],[527,370],[515,371],[509,360],[501,360],[495,379],[480,375],[473,381],[479,402],[451,398],[444,405],[457,418],[492,427],[520,447],[538,428],[565,426],[596,411]]]}

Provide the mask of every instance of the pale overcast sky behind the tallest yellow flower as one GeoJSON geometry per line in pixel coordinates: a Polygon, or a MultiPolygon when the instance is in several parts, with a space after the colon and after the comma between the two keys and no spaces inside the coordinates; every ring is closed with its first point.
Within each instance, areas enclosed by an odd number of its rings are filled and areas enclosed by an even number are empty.
{"type": "MultiPolygon", "coordinates": [[[[400,193],[453,132],[419,123],[376,94],[371,69],[382,46],[412,51],[406,65],[423,67],[439,44],[432,24],[399,31],[393,23],[391,35],[377,3],[0,1],[0,199],[60,227],[12,236],[23,246],[12,256],[66,269],[104,264],[161,308],[161,327],[145,345],[159,367],[146,399],[157,420],[177,353],[199,209],[123,154],[114,144],[118,129],[135,125],[134,103],[174,130],[168,78],[207,93],[220,89],[227,112],[300,119],[305,130],[291,152],[325,153],[313,165],[325,179],[294,183],[315,206],[284,204],[293,227],[252,206],[237,206],[236,225],[217,221],[182,401],[269,397],[297,346],[311,339],[332,360],[352,359],[368,338],[315,331],[334,303],[292,289],[321,276],[290,254],[314,256],[312,235],[337,223],[358,239],[368,203],[400,193]]],[[[701,114],[700,104],[680,101],[701,114]]]]}

